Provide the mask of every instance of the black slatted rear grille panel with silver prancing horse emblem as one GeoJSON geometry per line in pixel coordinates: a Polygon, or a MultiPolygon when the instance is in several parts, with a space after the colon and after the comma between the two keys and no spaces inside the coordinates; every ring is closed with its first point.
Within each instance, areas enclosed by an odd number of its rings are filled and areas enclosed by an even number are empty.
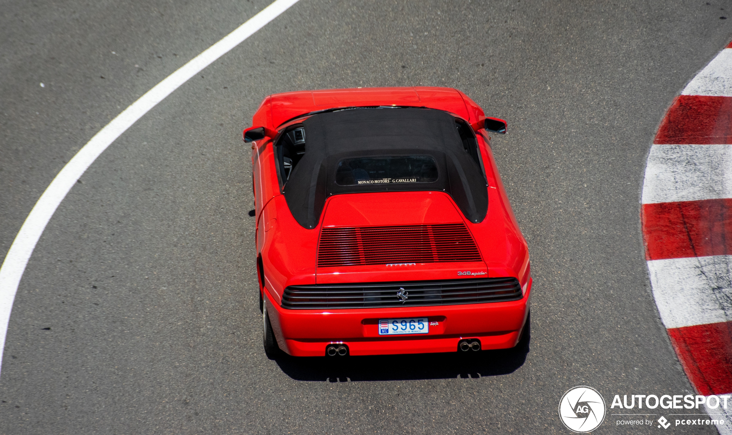
{"type": "Polygon", "coordinates": [[[522,297],[516,278],[315,284],[286,288],[282,307],[301,310],[421,307],[505,302],[522,297]],[[404,302],[397,297],[400,289],[408,292],[404,302]]]}

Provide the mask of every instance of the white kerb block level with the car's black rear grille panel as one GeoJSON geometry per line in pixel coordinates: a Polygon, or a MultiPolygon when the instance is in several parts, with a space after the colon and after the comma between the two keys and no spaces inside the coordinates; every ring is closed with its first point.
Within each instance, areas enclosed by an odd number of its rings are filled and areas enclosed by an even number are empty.
{"type": "Polygon", "coordinates": [[[666,328],[732,321],[732,256],[648,261],[666,328]]]}

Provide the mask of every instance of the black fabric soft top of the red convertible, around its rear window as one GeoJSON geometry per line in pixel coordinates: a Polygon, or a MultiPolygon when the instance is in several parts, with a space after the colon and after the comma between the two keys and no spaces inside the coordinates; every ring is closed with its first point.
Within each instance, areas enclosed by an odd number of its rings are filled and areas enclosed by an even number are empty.
{"type": "Polygon", "coordinates": [[[488,191],[479,164],[466,152],[455,117],[427,108],[363,108],[310,116],[303,122],[307,152],[284,188],[297,222],[315,228],[328,198],[339,193],[444,191],[468,220],[488,212],[488,191]],[[437,163],[435,182],[337,185],[338,162],[353,157],[427,155],[437,163]]]}

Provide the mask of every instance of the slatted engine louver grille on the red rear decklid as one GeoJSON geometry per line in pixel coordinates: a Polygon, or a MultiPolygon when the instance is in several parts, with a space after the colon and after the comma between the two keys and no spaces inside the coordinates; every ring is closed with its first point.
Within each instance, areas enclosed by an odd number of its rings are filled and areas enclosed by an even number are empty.
{"type": "Polygon", "coordinates": [[[481,261],[463,223],[323,228],[318,267],[481,261]]]}

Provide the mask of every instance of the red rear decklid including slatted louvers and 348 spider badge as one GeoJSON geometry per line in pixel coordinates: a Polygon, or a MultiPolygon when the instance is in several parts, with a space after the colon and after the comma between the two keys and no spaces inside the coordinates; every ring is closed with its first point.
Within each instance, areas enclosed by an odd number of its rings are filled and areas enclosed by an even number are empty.
{"type": "Polygon", "coordinates": [[[468,225],[442,192],[332,196],[318,240],[316,282],[487,276],[468,225]]]}

